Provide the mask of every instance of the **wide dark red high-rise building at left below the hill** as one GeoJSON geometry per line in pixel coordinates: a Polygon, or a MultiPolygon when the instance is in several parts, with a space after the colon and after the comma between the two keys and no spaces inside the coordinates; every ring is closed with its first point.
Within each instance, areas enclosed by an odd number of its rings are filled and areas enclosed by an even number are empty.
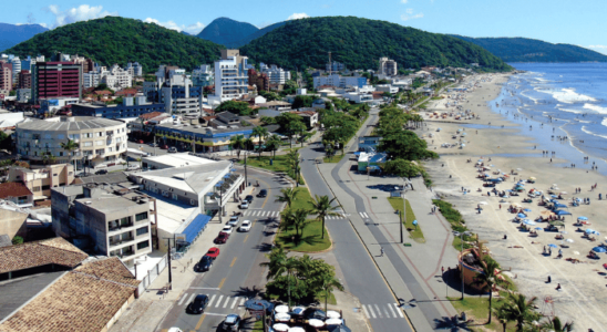
{"type": "Polygon", "coordinates": [[[82,96],[82,65],[72,62],[38,62],[32,72],[32,100],[82,96]]]}

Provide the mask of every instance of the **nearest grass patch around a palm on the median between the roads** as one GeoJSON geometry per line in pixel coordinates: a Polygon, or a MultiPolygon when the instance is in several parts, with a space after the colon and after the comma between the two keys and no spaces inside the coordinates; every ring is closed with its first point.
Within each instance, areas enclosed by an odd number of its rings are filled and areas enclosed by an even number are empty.
{"type": "Polygon", "coordinates": [[[327,229],[325,229],[325,239],[321,239],[321,229],[322,221],[313,220],[304,227],[304,237],[298,241],[294,242],[292,237],[295,236],[295,228],[281,231],[276,237],[276,243],[282,246],[282,248],[299,251],[299,252],[313,252],[322,251],[331,247],[331,239],[327,229]]]}

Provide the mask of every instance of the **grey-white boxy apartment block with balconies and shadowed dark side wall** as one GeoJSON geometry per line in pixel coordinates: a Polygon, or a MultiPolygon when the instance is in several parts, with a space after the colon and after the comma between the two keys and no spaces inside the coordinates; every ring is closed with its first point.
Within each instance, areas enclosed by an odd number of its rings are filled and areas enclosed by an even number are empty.
{"type": "Polygon", "coordinates": [[[157,220],[156,199],[137,189],[130,181],[52,188],[53,231],[132,267],[135,258],[152,252],[157,220]]]}

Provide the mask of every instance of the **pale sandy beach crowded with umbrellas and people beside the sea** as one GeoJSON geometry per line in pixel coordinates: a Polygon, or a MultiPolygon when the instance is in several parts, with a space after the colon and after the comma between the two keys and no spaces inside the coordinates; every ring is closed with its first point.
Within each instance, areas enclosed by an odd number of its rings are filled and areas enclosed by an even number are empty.
{"type": "MultiPolygon", "coordinates": [[[[545,131],[548,143],[537,142],[531,136],[525,135],[529,131],[528,126],[517,124],[513,121],[513,114],[506,116],[492,112],[487,102],[495,100],[503,84],[508,80],[504,74],[485,74],[466,77],[460,84],[480,82],[473,92],[462,93],[465,100],[460,101],[461,110],[470,110],[474,117],[465,120],[455,120],[454,117],[430,118],[433,112],[447,112],[453,107],[445,107],[447,98],[431,103],[426,112],[422,112],[426,120],[426,131],[423,133],[430,148],[441,155],[435,162],[426,163],[428,170],[434,183],[434,191],[454,204],[464,216],[469,228],[486,241],[486,247],[491,250],[493,257],[502,264],[506,273],[514,278],[518,290],[528,297],[537,297],[536,304],[538,311],[549,315],[556,314],[562,320],[575,321],[576,331],[606,331],[607,315],[607,269],[603,263],[607,262],[606,253],[598,253],[598,260],[587,258],[586,255],[593,247],[605,242],[607,236],[607,224],[600,212],[605,209],[605,194],[607,187],[603,187],[604,176],[591,170],[589,164],[584,164],[583,156],[567,156],[577,158],[574,160],[576,168],[564,166],[570,165],[568,160],[559,159],[558,144],[551,141],[552,129],[549,126],[536,127],[535,131],[545,131]],[[491,77],[491,79],[490,79],[491,77]],[[485,82],[480,82],[481,80],[485,82]],[[491,82],[488,82],[491,80],[491,82]],[[480,117],[480,118],[479,118],[480,117]],[[491,127],[488,124],[491,123],[491,127]],[[503,126],[503,127],[502,127],[503,126]],[[441,128],[438,132],[438,128],[441,128]],[[457,129],[463,129],[465,136],[457,135],[453,138],[457,129]],[[432,134],[432,137],[429,137],[432,134]],[[443,147],[442,145],[459,143],[460,138],[465,139],[465,146],[443,147]],[[535,149],[536,146],[536,149],[535,149]],[[556,152],[552,156],[543,156],[542,148],[556,152]],[[525,184],[525,191],[517,197],[501,198],[495,195],[487,197],[487,190],[483,187],[483,180],[477,178],[479,172],[475,167],[477,159],[483,157],[485,165],[493,165],[491,170],[501,169],[510,174],[511,170],[517,173],[512,175],[506,181],[498,184],[498,190],[513,189],[514,179],[528,179],[535,177],[535,184],[525,184]],[[552,162],[551,162],[552,157],[552,162]],[[491,162],[488,160],[491,158],[491,162]],[[466,160],[471,159],[472,163],[466,160]],[[518,229],[519,224],[513,222],[516,216],[507,211],[511,203],[517,203],[525,208],[531,209],[528,218],[534,220],[545,207],[538,206],[538,198],[532,203],[522,203],[527,197],[526,193],[531,188],[547,190],[556,184],[559,191],[567,191],[566,199],[559,200],[568,206],[565,210],[573,216],[565,217],[565,239],[572,239],[573,242],[566,242],[569,248],[563,248],[563,258],[556,258],[558,249],[553,249],[552,256],[543,255],[544,247],[554,243],[560,246],[562,241],[555,239],[558,232],[548,232],[538,230],[537,237],[529,237],[529,232],[518,229]],[[598,184],[595,190],[591,186],[598,184]],[[462,187],[470,190],[464,195],[462,187]],[[582,188],[582,193],[574,194],[576,188],[582,188]],[[482,191],[477,191],[481,188],[482,191]],[[605,190],[603,190],[605,189],[605,190]],[[604,200],[598,200],[598,194],[603,190],[604,200]],[[572,197],[590,198],[590,205],[579,205],[572,207],[572,197]],[[485,201],[481,214],[476,210],[477,205],[485,201]],[[600,232],[595,236],[596,241],[583,238],[584,232],[576,231],[573,226],[579,216],[588,218],[591,228],[600,232]],[[507,239],[504,239],[504,235],[507,239]],[[577,252],[577,253],[576,253],[577,252]],[[567,258],[578,259],[579,263],[573,263],[567,258]],[[546,283],[551,276],[552,283],[546,283]],[[562,290],[557,291],[556,286],[560,283],[562,290]],[[553,303],[553,305],[551,304],[553,303]]],[[[450,93],[455,95],[456,93],[450,93]]],[[[460,111],[455,111],[460,112],[460,111]]],[[[521,114],[521,116],[524,116],[521,114]]],[[[565,143],[566,144],[566,143],[565,143]]],[[[563,147],[562,151],[565,151],[563,147]]],[[[494,175],[493,175],[494,176],[494,175]]],[[[547,222],[538,222],[537,226],[544,228],[547,222]]],[[[536,227],[536,226],[533,226],[536,227]]]]}

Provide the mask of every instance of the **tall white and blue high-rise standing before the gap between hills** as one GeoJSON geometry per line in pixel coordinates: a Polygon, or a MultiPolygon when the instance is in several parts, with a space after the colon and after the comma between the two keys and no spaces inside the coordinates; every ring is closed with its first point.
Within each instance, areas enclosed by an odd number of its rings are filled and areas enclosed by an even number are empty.
{"type": "Polygon", "coordinates": [[[248,93],[247,56],[238,50],[222,50],[222,60],[215,61],[215,95],[212,105],[243,97],[248,93]]]}

